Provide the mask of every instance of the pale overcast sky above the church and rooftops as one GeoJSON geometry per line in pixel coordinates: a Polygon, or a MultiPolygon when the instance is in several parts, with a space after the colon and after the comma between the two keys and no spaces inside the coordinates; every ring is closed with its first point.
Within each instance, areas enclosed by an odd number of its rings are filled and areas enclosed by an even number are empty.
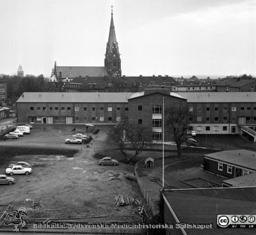
{"type": "Polygon", "coordinates": [[[123,75],[256,75],[256,0],[0,0],[0,73],[104,66],[111,4],[123,75]]]}

